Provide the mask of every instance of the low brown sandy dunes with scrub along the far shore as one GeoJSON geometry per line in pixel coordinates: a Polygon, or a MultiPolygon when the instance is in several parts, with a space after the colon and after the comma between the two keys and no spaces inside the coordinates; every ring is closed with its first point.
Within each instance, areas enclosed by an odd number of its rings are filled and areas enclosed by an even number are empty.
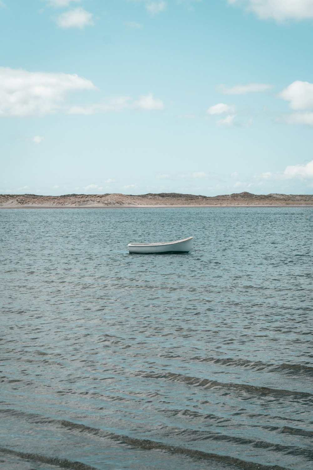
{"type": "Polygon", "coordinates": [[[36,194],[0,195],[0,207],[147,207],[147,206],[313,206],[313,195],[267,194],[247,192],[221,196],[194,194],[66,194],[38,196],[36,194]]]}

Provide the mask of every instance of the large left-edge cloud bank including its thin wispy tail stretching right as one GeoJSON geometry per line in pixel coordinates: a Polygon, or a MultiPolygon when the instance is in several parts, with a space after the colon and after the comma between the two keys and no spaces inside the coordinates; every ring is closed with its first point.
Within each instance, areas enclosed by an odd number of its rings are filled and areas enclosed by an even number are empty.
{"type": "Polygon", "coordinates": [[[84,90],[96,90],[96,87],[92,81],[75,74],[0,67],[0,117],[43,116],[56,112],[91,115],[126,109],[164,109],[162,100],[154,98],[152,93],[141,95],[138,100],[116,96],[103,103],[85,106],[69,106],[66,103],[69,93],[84,90]]]}

